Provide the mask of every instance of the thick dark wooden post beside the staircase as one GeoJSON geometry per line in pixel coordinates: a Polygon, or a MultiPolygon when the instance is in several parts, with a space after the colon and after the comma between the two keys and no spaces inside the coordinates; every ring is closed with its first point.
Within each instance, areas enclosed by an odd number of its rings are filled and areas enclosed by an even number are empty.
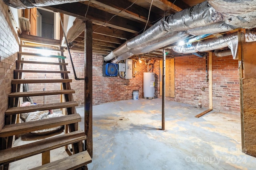
{"type": "Polygon", "coordinates": [[[84,131],[85,149],[92,158],[92,21],[85,22],[84,30],[84,131]]]}

